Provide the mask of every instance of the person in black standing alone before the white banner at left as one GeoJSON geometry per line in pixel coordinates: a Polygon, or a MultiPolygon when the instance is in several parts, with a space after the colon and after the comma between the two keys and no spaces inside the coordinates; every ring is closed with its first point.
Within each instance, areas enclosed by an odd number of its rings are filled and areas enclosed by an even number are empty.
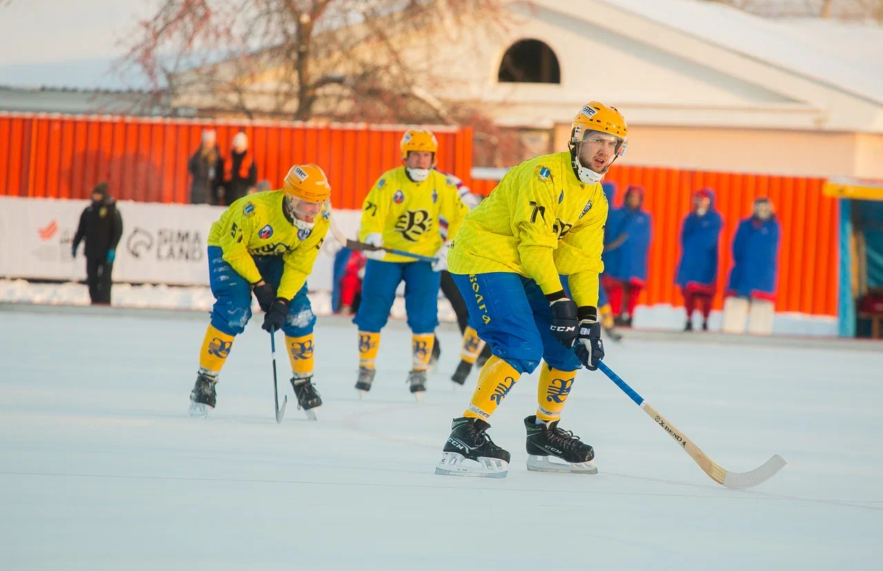
{"type": "Polygon", "coordinates": [[[92,204],[79,215],[71,245],[71,256],[77,257],[79,241],[86,239],[86,283],[93,305],[110,305],[110,273],[122,235],[123,219],[117,202],[109,196],[108,183],[101,182],[92,189],[92,204]]]}

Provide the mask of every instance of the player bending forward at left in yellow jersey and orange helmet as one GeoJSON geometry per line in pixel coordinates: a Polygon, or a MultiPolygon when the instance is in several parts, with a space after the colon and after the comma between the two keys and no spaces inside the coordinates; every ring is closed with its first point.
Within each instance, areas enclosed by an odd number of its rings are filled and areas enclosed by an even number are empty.
{"type": "Polygon", "coordinates": [[[215,296],[200,349],[200,372],[190,395],[191,416],[215,408],[215,384],[233,337],[252,316],[252,293],[264,310],[262,328],[285,332],[298,407],[322,404],[313,387],[313,325],[306,276],[329,226],[328,178],[316,165],[291,167],[283,189],[239,198],[208,234],[208,279],[215,296]]]}

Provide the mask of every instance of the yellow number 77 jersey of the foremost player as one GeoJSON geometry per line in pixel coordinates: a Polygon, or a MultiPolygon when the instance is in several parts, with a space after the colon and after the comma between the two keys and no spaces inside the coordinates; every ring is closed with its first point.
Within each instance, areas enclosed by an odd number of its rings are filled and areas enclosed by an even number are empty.
{"type": "Polygon", "coordinates": [[[451,244],[449,271],[514,272],[543,293],[562,290],[561,274],[569,276],[577,306],[597,306],[607,215],[600,183],[577,179],[570,152],[525,160],[466,215],[451,244]]]}

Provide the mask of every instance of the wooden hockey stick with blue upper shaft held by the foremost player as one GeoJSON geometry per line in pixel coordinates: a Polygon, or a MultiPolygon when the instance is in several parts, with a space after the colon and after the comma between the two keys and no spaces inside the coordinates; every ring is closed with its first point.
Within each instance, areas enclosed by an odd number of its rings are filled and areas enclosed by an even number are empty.
{"type": "Polygon", "coordinates": [[[598,362],[598,368],[608,375],[608,378],[616,383],[616,386],[623,389],[623,392],[635,401],[635,404],[641,407],[656,424],[665,428],[669,436],[675,439],[675,442],[681,445],[684,452],[690,455],[695,463],[699,464],[699,468],[706,472],[710,478],[721,486],[725,486],[734,490],[743,490],[763,484],[769,478],[773,478],[777,471],[780,471],[787,462],[778,454],[766,461],[762,466],[747,472],[726,471],[721,466],[712,462],[712,459],[706,456],[706,453],[699,449],[696,444],[686,437],[680,430],[675,428],[668,420],[662,418],[662,415],[656,411],[650,404],[647,404],[644,397],[638,395],[634,389],[619,378],[619,375],[610,370],[603,361],[598,362]]]}

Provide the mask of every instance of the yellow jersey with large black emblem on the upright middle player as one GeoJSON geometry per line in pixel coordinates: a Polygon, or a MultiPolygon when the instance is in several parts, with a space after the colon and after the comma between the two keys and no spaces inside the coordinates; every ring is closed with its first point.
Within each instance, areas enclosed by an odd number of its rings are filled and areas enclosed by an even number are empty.
{"type": "MultiPolygon", "coordinates": [[[[384,173],[362,204],[358,240],[368,234],[383,235],[383,245],[419,254],[435,256],[442,247],[442,229],[448,238],[457,235],[468,209],[460,199],[457,184],[434,169],[426,181],[413,182],[404,167],[384,173]]],[[[413,262],[413,258],[387,254],[383,262],[413,262]]]]}

